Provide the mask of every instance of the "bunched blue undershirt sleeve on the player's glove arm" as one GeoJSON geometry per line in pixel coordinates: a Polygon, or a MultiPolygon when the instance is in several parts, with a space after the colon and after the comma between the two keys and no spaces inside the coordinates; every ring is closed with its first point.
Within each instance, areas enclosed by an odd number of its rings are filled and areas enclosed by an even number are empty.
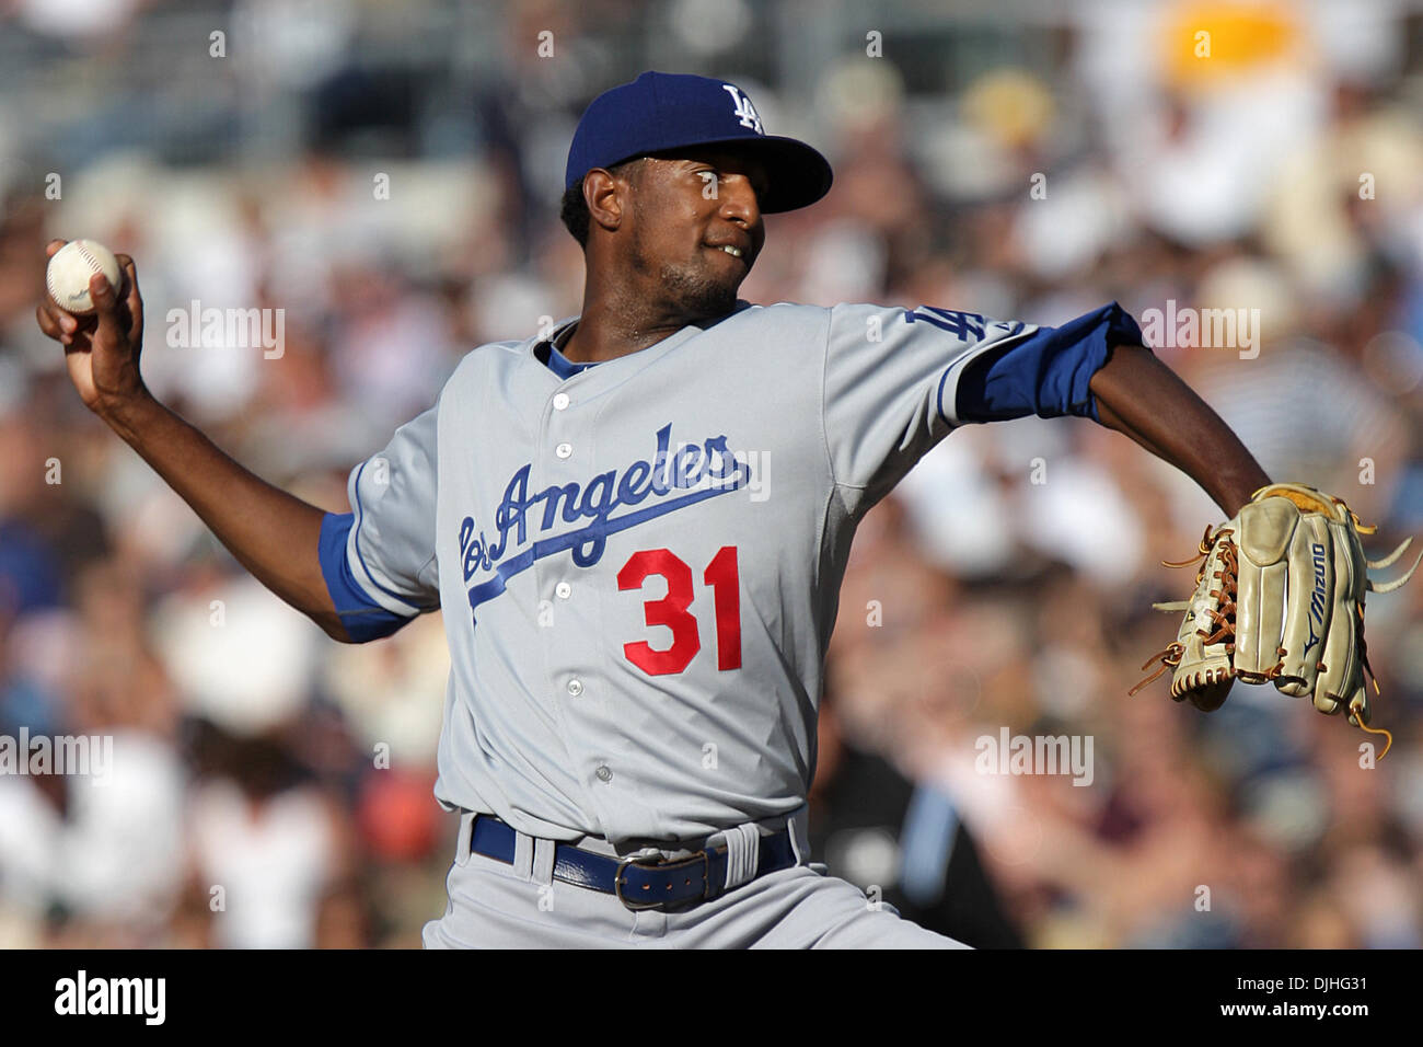
{"type": "Polygon", "coordinates": [[[998,352],[976,358],[959,377],[961,422],[1039,417],[1097,417],[1087,383],[1107,362],[1113,345],[1141,345],[1141,328],[1111,302],[1060,328],[1039,328],[998,352]]]}

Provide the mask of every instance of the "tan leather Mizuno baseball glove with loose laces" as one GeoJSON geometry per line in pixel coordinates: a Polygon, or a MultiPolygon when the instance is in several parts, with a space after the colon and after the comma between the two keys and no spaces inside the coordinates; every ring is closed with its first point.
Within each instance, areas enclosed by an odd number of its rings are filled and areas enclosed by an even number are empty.
{"type": "MultiPolygon", "coordinates": [[[[1321,712],[1348,708],[1349,722],[1369,731],[1363,674],[1372,681],[1373,668],[1363,642],[1363,597],[1399,588],[1423,561],[1420,554],[1402,578],[1376,584],[1366,568],[1389,567],[1413,541],[1369,561],[1359,536],[1376,530],[1313,487],[1261,487],[1214,534],[1205,528],[1197,556],[1163,561],[1188,567],[1205,557],[1190,600],[1153,604],[1185,611],[1185,620],[1175,641],[1141,667],[1160,661],[1157,671],[1128,694],[1174,670],[1171,698],[1210,712],[1237,679],[1269,682],[1288,695],[1311,695],[1321,712]]],[[[1376,681],[1373,689],[1377,694],[1376,681]]]]}

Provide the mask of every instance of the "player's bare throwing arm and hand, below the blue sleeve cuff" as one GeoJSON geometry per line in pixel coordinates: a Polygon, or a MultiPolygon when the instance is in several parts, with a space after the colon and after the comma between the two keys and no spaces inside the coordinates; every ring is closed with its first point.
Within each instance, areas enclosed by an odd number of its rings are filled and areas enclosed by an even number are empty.
{"type": "MultiPolygon", "coordinates": [[[[53,241],[53,255],[64,241],[53,241]]],[[[317,546],[326,513],[248,472],[198,429],[161,405],[139,376],[144,303],[134,259],[118,256],[120,289],[90,281],[94,316],[75,316],[48,296],[40,329],[64,345],[70,379],[98,415],[152,466],[258,581],[334,640],[350,637],[336,614],[317,546]],[[122,291],[120,298],[117,291],[122,291]]]]}

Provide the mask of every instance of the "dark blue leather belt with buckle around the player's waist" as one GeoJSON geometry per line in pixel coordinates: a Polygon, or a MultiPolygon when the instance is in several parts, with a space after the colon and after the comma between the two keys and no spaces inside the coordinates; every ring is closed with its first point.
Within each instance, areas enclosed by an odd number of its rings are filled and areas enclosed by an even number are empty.
{"type": "MultiPolygon", "coordinates": [[[[470,830],[470,850],[514,865],[518,833],[494,815],[475,815],[470,830]]],[[[666,909],[687,902],[707,902],[726,887],[727,846],[699,850],[690,858],[616,859],[575,848],[554,845],[554,879],[576,887],[616,895],[628,909],[666,909]]],[[[756,875],[797,865],[788,829],[761,836],[756,875]]]]}

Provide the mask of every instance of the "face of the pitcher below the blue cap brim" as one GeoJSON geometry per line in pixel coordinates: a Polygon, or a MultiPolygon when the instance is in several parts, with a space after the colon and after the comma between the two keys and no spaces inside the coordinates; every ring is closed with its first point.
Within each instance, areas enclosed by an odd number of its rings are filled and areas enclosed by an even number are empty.
{"type": "Polygon", "coordinates": [[[628,266],[672,312],[726,315],[766,242],[764,194],[761,164],[734,152],[646,160],[636,175],[628,266]]]}

